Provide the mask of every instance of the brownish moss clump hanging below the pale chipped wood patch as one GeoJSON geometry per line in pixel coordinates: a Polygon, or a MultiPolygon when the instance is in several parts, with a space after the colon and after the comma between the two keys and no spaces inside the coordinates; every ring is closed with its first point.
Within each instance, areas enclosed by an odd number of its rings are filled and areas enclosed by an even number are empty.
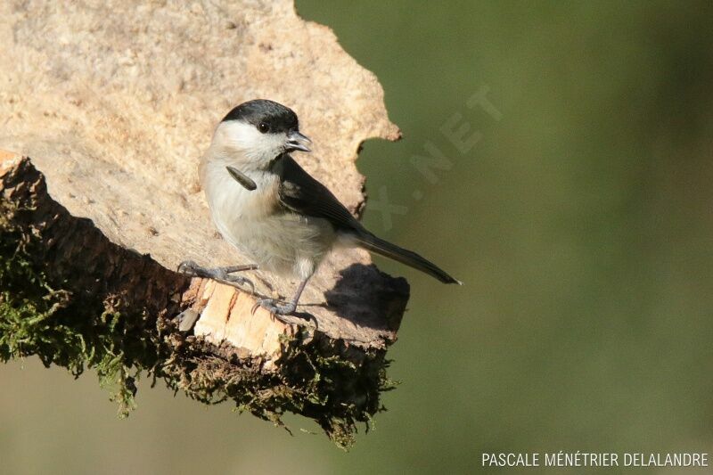
{"type": "Polygon", "coordinates": [[[164,341],[170,347],[168,357],[161,359],[155,375],[171,388],[207,404],[232,399],[236,411],[278,426],[283,426],[285,412],[303,414],[345,449],[354,443],[357,424],[368,428],[372,415],[382,409],[380,392],[394,384],[386,377],[388,362],[381,355],[362,354],[358,364],[347,361],[354,350],[332,347],[307,332],[284,342],[275,373],[261,372],[261,362],[241,359],[231,353],[233,348],[215,348],[193,336],[172,332],[164,341]]]}

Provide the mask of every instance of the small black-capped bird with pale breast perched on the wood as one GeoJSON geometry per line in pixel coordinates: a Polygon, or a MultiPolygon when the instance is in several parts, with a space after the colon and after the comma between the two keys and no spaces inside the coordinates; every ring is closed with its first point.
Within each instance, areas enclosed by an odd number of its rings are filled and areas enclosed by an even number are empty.
{"type": "Polygon", "coordinates": [[[278,102],[243,102],[217,125],[201,158],[201,185],[210,214],[227,242],[251,259],[245,266],[205,268],[192,261],[184,274],[232,284],[249,283],[235,272],[260,268],[283,278],[298,278],[294,298],[258,304],[275,315],[290,315],[324,256],[335,246],[362,247],[458,283],[415,252],[383,241],[365,229],[323,184],[290,156],[311,152],[299,132],[297,115],[278,102]]]}

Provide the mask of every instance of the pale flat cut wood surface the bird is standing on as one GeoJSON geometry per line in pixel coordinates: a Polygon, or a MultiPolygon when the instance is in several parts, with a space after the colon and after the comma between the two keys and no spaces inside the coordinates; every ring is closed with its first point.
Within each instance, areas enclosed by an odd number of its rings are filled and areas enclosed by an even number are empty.
{"type": "MultiPolygon", "coordinates": [[[[295,110],[314,141],[300,164],[360,210],[359,144],[399,135],[373,74],[330,29],[299,19],[291,1],[184,5],[0,4],[0,147],[29,156],[53,201],[119,248],[170,271],[184,259],[242,264],[210,220],[196,168],[226,111],[270,98],[295,110]]],[[[245,274],[261,295],[290,297],[296,286],[245,274]]],[[[138,282],[127,275],[123,290],[138,282]]],[[[285,325],[263,309],[251,315],[254,296],[201,279],[187,292],[202,313],[197,332],[273,351],[276,340],[258,333],[285,325]]],[[[346,250],[325,260],[298,310],[330,338],[385,348],[406,295],[365,251],[346,250]]]]}

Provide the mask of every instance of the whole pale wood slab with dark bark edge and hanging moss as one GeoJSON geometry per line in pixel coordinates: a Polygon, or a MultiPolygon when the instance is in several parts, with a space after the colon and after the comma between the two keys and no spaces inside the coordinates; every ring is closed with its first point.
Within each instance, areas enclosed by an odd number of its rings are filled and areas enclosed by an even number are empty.
{"type": "Polygon", "coordinates": [[[380,408],[403,279],[360,250],[327,258],[282,323],[255,292],[176,273],[246,262],[216,233],[197,181],[212,128],[257,97],[297,111],[300,164],[357,214],[369,137],[396,140],[373,74],[293,4],[0,4],[0,358],[97,368],[125,414],[148,373],[206,403],[316,420],[340,446],[380,408]],[[31,160],[28,158],[31,157],[31,160]],[[175,317],[198,315],[193,332],[175,317]],[[185,315],[185,314],[184,314],[185,315]]]}

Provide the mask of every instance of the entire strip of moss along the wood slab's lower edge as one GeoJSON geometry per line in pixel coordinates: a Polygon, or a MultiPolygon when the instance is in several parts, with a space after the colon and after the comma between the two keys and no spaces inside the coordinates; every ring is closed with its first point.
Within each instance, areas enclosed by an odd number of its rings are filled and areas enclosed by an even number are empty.
{"type": "Polygon", "coordinates": [[[94,368],[120,416],[135,407],[143,372],[205,404],[233,400],[236,411],[278,426],[286,412],[305,415],[343,448],[354,443],[359,422],[368,429],[382,410],[380,393],[394,386],[383,351],[302,332],[283,340],[277,371],[265,372],[262,362],[186,336],[162,315],[128,307],[121,295],[87,297],[50,283],[41,270],[41,230],[32,225],[31,206],[21,205],[0,203],[0,360],[37,355],[76,377],[94,368]]]}

